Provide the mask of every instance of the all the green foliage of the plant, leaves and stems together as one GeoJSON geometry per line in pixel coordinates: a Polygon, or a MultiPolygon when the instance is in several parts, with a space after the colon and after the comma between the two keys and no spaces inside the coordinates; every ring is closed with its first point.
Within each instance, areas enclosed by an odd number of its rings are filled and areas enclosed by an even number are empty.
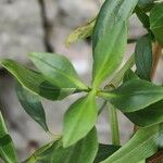
{"type": "MultiPolygon", "coordinates": [[[[51,142],[36,150],[25,163],[140,163],[162,149],[163,87],[152,83],[155,68],[152,46],[163,45],[163,2],[105,0],[98,16],[73,32],[66,43],[89,36],[92,36],[93,59],[90,87],[62,54],[30,53],[35,70],[13,60],[0,60],[17,80],[17,98],[24,110],[50,135],[41,97],[55,101],[82,93],[64,114],[61,137],[57,140],[52,137],[51,142]],[[128,20],[133,14],[147,34],[137,40],[135,53],[117,71],[126,51],[128,20]],[[135,72],[130,70],[134,65],[135,72]],[[99,98],[104,100],[102,108],[98,106],[99,98]],[[98,116],[106,104],[112,145],[99,143],[96,129],[98,116]],[[124,146],[120,145],[117,110],[138,126],[124,146]]],[[[2,115],[0,156],[7,163],[17,162],[2,115]]]]}

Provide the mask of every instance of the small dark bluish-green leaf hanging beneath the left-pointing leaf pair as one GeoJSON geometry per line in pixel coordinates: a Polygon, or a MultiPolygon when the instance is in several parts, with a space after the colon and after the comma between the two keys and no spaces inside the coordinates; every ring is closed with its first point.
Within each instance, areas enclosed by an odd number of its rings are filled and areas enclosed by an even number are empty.
{"type": "Polygon", "coordinates": [[[39,97],[24,89],[20,84],[16,85],[16,93],[25,112],[46,131],[49,131],[45,109],[39,100],[39,97]]]}

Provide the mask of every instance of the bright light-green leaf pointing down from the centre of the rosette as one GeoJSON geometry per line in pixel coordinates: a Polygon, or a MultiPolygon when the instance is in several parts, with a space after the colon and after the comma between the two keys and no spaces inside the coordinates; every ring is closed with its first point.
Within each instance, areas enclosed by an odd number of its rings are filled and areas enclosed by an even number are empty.
{"type": "Polygon", "coordinates": [[[95,126],[98,116],[96,96],[89,93],[73,103],[64,115],[63,146],[68,147],[84,138],[95,126]]]}

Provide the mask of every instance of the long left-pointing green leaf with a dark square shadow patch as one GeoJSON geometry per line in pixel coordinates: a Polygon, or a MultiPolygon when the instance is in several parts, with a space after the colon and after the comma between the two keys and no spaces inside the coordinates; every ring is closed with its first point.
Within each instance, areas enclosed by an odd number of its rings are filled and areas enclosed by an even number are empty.
{"type": "Polygon", "coordinates": [[[79,91],[76,88],[57,87],[35,71],[28,70],[12,60],[0,60],[0,64],[7,68],[26,89],[49,100],[61,100],[68,95],[79,91]]]}

